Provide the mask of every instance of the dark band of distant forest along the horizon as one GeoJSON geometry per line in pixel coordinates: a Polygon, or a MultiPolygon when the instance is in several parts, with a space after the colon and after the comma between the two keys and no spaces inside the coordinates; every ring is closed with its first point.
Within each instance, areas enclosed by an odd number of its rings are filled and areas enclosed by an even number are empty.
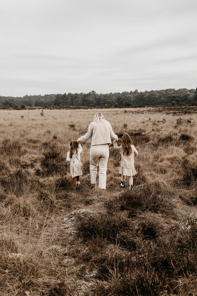
{"type": "Polygon", "coordinates": [[[140,91],[124,91],[122,93],[97,94],[89,93],[65,93],[51,95],[26,95],[24,97],[0,96],[0,107],[98,107],[117,108],[130,106],[197,106],[197,88],[195,89],[163,89],[140,91]]]}

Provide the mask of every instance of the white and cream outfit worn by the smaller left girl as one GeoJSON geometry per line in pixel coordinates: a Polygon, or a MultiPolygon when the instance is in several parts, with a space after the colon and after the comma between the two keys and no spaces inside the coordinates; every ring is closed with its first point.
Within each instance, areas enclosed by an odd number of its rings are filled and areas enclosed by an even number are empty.
{"type": "Polygon", "coordinates": [[[70,158],[70,151],[67,152],[67,158],[66,161],[70,162],[70,174],[72,178],[75,178],[76,176],[82,176],[82,163],[80,154],[83,151],[83,148],[81,147],[81,144],[79,144],[77,153],[74,152],[72,155],[72,158],[70,158]]]}

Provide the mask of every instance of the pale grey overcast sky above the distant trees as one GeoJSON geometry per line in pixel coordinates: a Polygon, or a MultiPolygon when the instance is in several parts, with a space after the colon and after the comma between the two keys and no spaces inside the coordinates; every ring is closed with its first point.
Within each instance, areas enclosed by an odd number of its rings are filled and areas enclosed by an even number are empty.
{"type": "Polygon", "coordinates": [[[0,0],[0,95],[197,87],[197,0],[0,0]]]}

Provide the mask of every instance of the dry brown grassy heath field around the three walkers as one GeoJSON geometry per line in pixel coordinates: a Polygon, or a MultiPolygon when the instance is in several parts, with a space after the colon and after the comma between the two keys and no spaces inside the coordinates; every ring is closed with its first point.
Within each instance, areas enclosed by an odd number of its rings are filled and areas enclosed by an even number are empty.
{"type": "MultiPolygon", "coordinates": [[[[197,109],[102,110],[139,152],[133,191],[71,185],[69,141],[96,110],[0,110],[0,296],[197,295],[197,109]]],[[[128,184],[128,180],[127,185],[128,184]]]]}

